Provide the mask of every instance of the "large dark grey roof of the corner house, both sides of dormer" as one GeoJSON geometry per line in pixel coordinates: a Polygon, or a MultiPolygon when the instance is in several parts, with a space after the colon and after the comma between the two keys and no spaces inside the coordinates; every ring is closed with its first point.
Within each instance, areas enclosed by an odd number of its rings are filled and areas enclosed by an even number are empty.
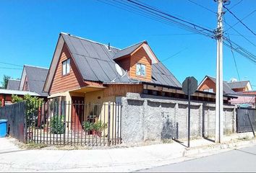
{"type": "MultiPolygon", "coordinates": [[[[118,48],[108,50],[107,45],[95,43],[90,40],[85,40],[81,37],[75,37],[61,33],[67,44],[72,57],[82,74],[83,79],[88,81],[101,81],[107,83],[138,83],[140,81],[129,79],[124,69],[121,68],[122,76],[116,71],[116,62],[114,61],[116,54],[125,55],[138,48],[142,43],[137,43],[124,51],[118,48]],[[121,53],[119,53],[121,52],[121,53]]],[[[162,63],[153,64],[152,83],[163,84],[168,86],[181,86],[179,81],[171,74],[162,63]]]]}

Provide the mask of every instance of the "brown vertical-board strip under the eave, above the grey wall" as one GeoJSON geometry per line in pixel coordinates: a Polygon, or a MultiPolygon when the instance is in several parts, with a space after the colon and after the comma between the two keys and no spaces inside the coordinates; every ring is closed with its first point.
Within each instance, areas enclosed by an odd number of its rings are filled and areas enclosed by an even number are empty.
{"type": "Polygon", "coordinates": [[[110,96],[125,96],[127,92],[135,92],[135,93],[142,93],[143,92],[143,85],[137,84],[113,84],[108,85],[108,88],[104,89],[103,97],[110,97],[110,96]]]}

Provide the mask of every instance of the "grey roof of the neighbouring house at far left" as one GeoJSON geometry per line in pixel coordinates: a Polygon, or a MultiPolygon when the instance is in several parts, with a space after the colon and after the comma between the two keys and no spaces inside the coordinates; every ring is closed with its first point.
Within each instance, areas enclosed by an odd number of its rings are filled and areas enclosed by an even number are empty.
{"type": "Polygon", "coordinates": [[[46,92],[43,92],[43,85],[46,81],[46,76],[48,74],[47,68],[35,67],[35,66],[24,66],[27,82],[30,92],[36,92],[40,96],[48,96],[46,92]]]}

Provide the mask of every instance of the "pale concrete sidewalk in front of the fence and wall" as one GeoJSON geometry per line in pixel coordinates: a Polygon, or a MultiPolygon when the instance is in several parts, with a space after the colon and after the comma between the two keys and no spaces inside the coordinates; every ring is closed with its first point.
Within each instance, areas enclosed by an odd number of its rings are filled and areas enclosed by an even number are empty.
{"type": "Polygon", "coordinates": [[[256,143],[254,139],[237,140],[244,137],[252,138],[252,134],[226,136],[224,141],[231,143],[223,144],[205,139],[193,140],[191,148],[174,142],[131,148],[72,151],[21,150],[14,146],[12,139],[0,138],[0,172],[132,172],[256,143]]]}

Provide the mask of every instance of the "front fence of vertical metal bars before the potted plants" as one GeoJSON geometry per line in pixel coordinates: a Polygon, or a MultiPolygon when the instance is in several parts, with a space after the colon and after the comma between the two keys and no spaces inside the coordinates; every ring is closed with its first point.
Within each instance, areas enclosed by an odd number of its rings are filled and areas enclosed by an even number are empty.
{"type": "Polygon", "coordinates": [[[46,145],[105,146],[121,143],[121,104],[27,104],[26,141],[46,145]]]}

